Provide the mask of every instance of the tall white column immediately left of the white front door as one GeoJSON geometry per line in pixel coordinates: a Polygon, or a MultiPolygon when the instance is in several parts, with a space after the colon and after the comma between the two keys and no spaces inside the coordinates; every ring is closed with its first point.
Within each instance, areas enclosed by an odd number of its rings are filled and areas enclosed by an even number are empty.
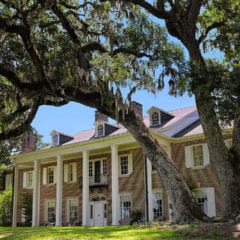
{"type": "Polygon", "coordinates": [[[83,151],[82,225],[89,225],[89,152],[83,151]]]}

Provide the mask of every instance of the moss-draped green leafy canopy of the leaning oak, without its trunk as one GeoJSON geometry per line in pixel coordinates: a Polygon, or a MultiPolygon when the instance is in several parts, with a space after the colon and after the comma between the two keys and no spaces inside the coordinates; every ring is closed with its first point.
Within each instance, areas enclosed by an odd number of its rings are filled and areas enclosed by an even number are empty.
{"type": "Polygon", "coordinates": [[[67,96],[73,86],[102,95],[126,86],[156,92],[163,86],[157,69],[174,81],[182,76],[183,51],[166,29],[124,5],[0,3],[0,139],[26,131],[38,106],[74,100],[67,96]]]}

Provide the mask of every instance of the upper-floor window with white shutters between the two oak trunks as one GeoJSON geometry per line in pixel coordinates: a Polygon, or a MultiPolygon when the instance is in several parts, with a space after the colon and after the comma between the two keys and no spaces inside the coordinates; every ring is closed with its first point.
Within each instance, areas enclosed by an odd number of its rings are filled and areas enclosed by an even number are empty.
{"type": "Polygon", "coordinates": [[[187,168],[199,168],[210,164],[207,144],[185,147],[185,164],[187,168]]]}

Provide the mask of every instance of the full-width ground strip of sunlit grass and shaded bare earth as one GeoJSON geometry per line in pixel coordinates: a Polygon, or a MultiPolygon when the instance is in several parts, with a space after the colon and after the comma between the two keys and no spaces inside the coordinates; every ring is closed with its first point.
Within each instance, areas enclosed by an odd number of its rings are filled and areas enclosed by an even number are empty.
{"type": "Polygon", "coordinates": [[[239,227],[235,227],[228,223],[172,225],[169,222],[156,223],[151,226],[0,227],[0,240],[240,240],[239,227]],[[233,238],[233,233],[236,231],[238,237],[233,238]]]}

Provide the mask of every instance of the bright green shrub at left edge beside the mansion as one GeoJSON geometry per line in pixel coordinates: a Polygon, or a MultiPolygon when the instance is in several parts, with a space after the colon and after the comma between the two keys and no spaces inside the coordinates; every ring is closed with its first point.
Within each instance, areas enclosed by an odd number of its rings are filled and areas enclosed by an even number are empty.
{"type": "Polygon", "coordinates": [[[0,192],[0,225],[9,226],[12,221],[12,186],[0,192]]]}

